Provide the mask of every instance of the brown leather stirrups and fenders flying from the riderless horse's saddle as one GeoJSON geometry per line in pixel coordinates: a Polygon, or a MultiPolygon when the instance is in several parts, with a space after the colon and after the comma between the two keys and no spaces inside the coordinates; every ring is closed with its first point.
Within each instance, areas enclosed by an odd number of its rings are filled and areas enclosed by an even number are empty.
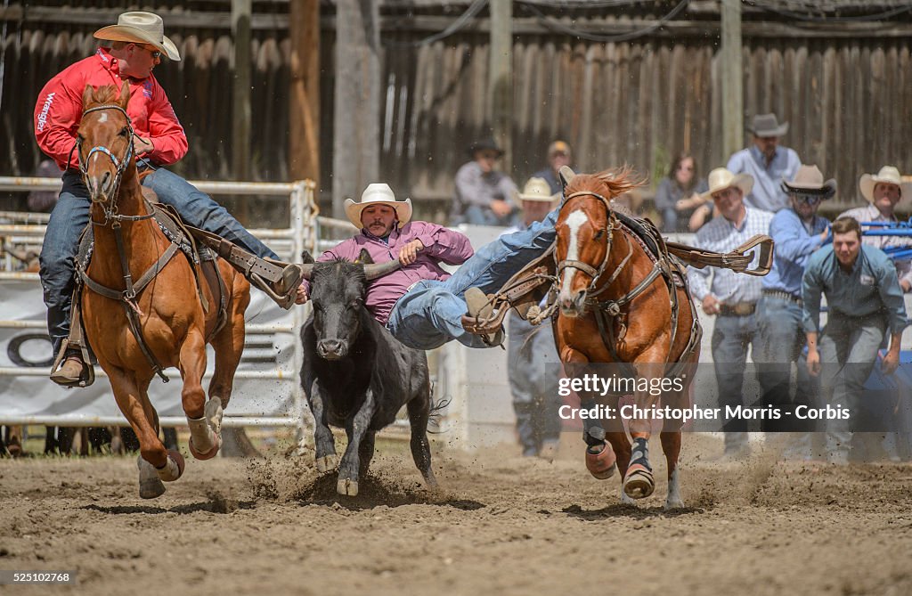
{"type": "MultiPolygon", "coordinates": [[[[773,242],[768,235],[754,235],[731,252],[718,253],[702,250],[696,246],[668,242],[659,234],[656,225],[648,218],[630,217],[619,212],[615,212],[615,214],[627,229],[648,246],[650,252],[658,260],[667,261],[669,269],[677,269],[681,275],[686,275],[684,271],[686,267],[698,269],[720,267],[750,276],[765,276],[772,269],[773,242]],[[748,253],[754,248],[759,251],[757,265],[749,268],[754,255],[748,253]]],[[[490,311],[492,314],[489,317],[463,316],[462,327],[470,333],[478,335],[493,333],[501,328],[503,319],[510,308],[515,308],[520,317],[534,325],[553,316],[557,281],[554,261],[555,244],[556,242],[545,251],[544,255],[539,256],[511,277],[503,288],[488,296],[488,304],[492,306],[490,311]],[[545,296],[548,297],[548,306],[540,308],[539,304],[545,296]]]]}

